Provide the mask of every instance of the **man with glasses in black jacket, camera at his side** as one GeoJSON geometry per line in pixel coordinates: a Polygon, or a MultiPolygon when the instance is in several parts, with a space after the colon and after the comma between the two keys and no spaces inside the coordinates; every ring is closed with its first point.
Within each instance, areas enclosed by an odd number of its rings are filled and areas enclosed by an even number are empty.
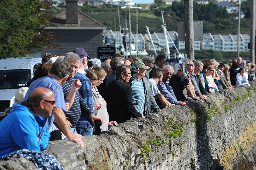
{"type": "Polygon", "coordinates": [[[127,85],[131,78],[131,66],[119,64],[116,68],[116,80],[105,88],[104,99],[107,102],[109,121],[123,123],[131,117],[144,117],[132,104],[132,88],[127,85]]]}

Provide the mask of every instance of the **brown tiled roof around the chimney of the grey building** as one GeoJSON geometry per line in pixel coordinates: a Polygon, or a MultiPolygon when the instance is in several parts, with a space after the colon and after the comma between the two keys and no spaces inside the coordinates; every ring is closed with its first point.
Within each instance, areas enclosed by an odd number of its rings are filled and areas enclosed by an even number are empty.
{"type": "Polygon", "coordinates": [[[106,27],[81,11],[78,11],[78,24],[66,23],[66,10],[56,15],[51,23],[57,27],[106,27]]]}

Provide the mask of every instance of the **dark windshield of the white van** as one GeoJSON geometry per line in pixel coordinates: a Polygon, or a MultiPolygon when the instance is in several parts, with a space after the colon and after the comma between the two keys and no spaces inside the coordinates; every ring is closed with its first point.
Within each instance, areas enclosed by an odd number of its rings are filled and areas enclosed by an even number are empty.
{"type": "Polygon", "coordinates": [[[23,87],[30,79],[30,70],[0,70],[0,89],[23,87]]]}

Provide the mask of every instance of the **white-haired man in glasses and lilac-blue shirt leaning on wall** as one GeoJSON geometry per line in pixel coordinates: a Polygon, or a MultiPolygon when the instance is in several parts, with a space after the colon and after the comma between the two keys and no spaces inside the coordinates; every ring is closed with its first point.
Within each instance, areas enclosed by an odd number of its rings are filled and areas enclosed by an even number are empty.
{"type": "Polygon", "coordinates": [[[163,67],[163,80],[161,83],[159,83],[158,86],[158,90],[160,91],[160,93],[165,97],[165,99],[168,100],[168,102],[170,102],[171,104],[175,104],[175,105],[181,105],[181,106],[186,106],[187,104],[185,102],[182,101],[178,101],[176,99],[176,96],[172,90],[172,87],[170,85],[170,78],[172,77],[172,73],[173,73],[173,68],[170,65],[166,65],[163,67]]]}

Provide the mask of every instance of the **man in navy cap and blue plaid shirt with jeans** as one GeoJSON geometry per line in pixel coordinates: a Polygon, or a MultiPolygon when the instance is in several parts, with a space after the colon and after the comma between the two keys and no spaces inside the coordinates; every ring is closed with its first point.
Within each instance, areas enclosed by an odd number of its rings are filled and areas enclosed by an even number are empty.
{"type": "MultiPolygon", "coordinates": [[[[86,72],[84,71],[84,69],[87,67],[88,59],[91,59],[91,57],[87,55],[87,52],[83,48],[76,48],[72,52],[78,54],[81,60],[80,67],[74,77],[75,79],[79,79],[82,84],[78,91],[94,114],[91,83],[89,78],[85,76],[86,72]]],[[[92,125],[88,116],[81,114],[80,119],[76,124],[76,131],[78,134],[83,136],[91,135],[92,125]]]]}

